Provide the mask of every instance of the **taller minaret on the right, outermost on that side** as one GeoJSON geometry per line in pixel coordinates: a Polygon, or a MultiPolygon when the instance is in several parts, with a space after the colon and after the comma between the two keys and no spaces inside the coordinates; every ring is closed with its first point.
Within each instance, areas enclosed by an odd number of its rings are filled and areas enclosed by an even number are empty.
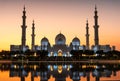
{"type": "Polygon", "coordinates": [[[99,31],[98,31],[98,28],[99,28],[99,25],[98,25],[98,16],[97,16],[97,7],[95,5],[95,16],[94,16],[94,41],[95,41],[95,45],[99,45],[99,31]]]}

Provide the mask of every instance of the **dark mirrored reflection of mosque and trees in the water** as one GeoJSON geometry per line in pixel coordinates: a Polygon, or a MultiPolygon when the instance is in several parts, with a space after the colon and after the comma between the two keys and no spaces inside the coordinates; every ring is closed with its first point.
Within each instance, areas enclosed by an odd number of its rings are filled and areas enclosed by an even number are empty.
{"type": "Polygon", "coordinates": [[[9,71],[9,77],[20,77],[25,81],[25,77],[31,74],[31,81],[34,77],[40,77],[40,81],[48,81],[50,76],[55,81],[66,81],[69,76],[72,81],[90,81],[90,73],[95,81],[100,81],[101,77],[116,76],[120,70],[118,64],[82,64],[82,63],[31,63],[31,64],[0,64],[1,71],[9,71]]]}

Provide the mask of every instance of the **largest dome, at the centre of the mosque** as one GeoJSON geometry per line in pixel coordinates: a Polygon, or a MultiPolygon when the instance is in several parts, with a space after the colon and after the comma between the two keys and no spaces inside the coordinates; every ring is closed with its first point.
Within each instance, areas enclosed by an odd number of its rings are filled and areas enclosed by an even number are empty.
{"type": "Polygon", "coordinates": [[[55,38],[55,44],[56,45],[65,45],[66,43],[66,38],[63,34],[58,34],[55,38]]]}

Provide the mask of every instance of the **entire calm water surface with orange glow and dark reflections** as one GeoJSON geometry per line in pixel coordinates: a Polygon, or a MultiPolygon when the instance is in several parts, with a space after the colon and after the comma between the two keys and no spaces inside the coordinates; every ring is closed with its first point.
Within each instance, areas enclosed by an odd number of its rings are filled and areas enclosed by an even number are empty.
{"type": "Polygon", "coordinates": [[[3,62],[0,81],[120,81],[120,64],[3,62]]]}

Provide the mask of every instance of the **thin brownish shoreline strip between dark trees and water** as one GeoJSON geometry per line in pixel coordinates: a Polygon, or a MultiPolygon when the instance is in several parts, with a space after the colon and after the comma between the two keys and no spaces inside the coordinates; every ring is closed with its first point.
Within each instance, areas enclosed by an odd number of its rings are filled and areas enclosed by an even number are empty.
{"type": "Polygon", "coordinates": [[[0,60],[0,63],[104,63],[104,64],[120,64],[120,60],[81,60],[81,61],[11,61],[0,60]]]}

